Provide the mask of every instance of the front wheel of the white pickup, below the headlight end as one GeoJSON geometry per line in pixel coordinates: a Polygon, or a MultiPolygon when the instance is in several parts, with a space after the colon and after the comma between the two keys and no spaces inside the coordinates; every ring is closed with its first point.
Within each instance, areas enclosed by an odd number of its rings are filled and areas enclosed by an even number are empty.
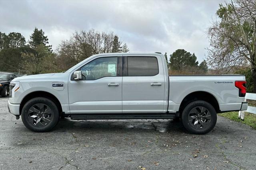
{"type": "Polygon", "coordinates": [[[23,124],[34,132],[48,132],[59,121],[59,111],[56,104],[50,99],[36,97],[29,100],[22,108],[23,124]]]}

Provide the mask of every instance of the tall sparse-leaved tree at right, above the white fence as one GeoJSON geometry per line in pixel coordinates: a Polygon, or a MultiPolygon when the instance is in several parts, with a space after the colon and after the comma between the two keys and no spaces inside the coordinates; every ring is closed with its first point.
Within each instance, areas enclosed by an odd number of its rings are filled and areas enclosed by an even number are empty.
{"type": "Polygon", "coordinates": [[[208,29],[208,64],[225,72],[249,66],[256,85],[256,1],[226,2],[216,14],[219,20],[208,29]]]}

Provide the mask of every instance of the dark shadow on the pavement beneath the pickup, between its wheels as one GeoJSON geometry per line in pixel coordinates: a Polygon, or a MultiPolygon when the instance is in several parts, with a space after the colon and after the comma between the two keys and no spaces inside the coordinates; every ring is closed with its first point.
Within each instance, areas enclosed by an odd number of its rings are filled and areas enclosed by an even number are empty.
{"type": "Polygon", "coordinates": [[[100,121],[70,121],[70,119],[61,119],[55,130],[62,129],[64,131],[88,131],[93,132],[122,130],[154,130],[158,132],[175,132],[184,133],[185,130],[182,127],[181,122],[173,120],[100,120],[100,121]]]}

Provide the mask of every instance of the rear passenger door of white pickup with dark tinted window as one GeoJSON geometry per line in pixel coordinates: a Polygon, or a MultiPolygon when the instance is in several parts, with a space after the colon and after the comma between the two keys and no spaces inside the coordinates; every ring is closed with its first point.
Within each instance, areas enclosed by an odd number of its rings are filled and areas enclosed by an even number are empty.
{"type": "Polygon", "coordinates": [[[123,56],[123,113],[163,113],[164,85],[159,55],[123,56]]]}

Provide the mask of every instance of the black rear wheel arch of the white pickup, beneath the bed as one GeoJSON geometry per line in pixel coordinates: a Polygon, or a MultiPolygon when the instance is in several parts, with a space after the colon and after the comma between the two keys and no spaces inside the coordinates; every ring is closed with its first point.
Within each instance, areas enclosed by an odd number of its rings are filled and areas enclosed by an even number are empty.
{"type": "Polygon", "coordinates": [[[186,105],[188,105],[188,103],[191,103],[197,100],[202,100],[210,103],[214,107],[216,113],[220,113],[220,106],[216,97],[214,97],[214,95],[206,91],[194,91],[186,95],[186,97],[184,97],[184,99],[180,103],[180,108],[179,108],[180,115],[182,114],[183,109],[186,107],[186,105]]]}

